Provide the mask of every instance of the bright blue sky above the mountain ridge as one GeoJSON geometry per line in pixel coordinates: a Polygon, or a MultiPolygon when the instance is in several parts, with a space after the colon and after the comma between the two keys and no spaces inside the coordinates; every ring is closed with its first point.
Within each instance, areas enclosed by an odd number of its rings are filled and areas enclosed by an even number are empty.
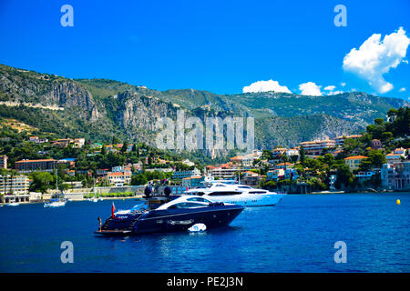
{"type": "MultiPolygon", "coordinates": [[[[343,68],[343,58],[354,47],[374,34],[383,40],[399,27],[410,36],[408,0],[1,0],[0,63],[159,90],[235,94],[272,79],[296,94],[302,92],[300,85],[312,82],[323,95],[357,90],[408,100],[408,50],[384,75],[373,72],[384,70],[383,64],[364,73],[356,63],[343,68]],[[60,8],[66,4],[74,8],[73,27],[60,25],[60,8]],[[345,27],[333,24],[339,4],[347,9],[345,27]],[[384,86],[387,92],[380,89],[383,84],[374,84],[379,76],[391,85],[384,86]],[[326,91],[329,85],[334,88],[326,91]]],[[[354,62],[360,63],[357,58],[354,62]]],[[[385,61],[383,55],[378,58],[385,61]]]]}

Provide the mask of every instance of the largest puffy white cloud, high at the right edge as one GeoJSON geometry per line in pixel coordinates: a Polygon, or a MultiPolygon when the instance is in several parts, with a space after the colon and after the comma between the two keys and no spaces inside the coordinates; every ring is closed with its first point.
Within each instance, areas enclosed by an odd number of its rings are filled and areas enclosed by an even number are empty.
{"type": "Polygon", "coordinates": [[[405,35],[403,27],[385,35],[383,41],[381,36],[370,36],[359,49],[353,48],[345,55],[343,70],[364,78],[379,93],[386,93],[393,89],[393,85],[385,81],[383,75],[402,63],[410,38],[405,35]]]}

